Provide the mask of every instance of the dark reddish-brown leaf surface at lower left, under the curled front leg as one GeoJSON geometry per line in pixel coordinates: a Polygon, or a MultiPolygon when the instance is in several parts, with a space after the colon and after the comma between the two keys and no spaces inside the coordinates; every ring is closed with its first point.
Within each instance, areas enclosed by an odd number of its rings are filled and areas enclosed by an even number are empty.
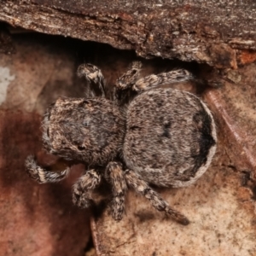
{"type": "Polygon", "coordinates": [[[41,147],[39,115],[0,110],[0,119],[0,254],[82,255],[89,216],[73,207],[74,177],[40,186],[25,172],[26,155],[41,147]]]}

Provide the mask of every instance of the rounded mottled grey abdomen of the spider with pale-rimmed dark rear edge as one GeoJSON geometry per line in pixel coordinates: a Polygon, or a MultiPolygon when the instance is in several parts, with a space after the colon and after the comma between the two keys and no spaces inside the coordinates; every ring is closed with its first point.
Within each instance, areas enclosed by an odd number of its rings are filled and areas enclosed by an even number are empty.
{"type": "Polygon", "coordinates": [[[183,187],[207,170],[216,129],[198,97],[171,88],[146,90],[126,114],[125,163],[148,183],[183,187]]]}

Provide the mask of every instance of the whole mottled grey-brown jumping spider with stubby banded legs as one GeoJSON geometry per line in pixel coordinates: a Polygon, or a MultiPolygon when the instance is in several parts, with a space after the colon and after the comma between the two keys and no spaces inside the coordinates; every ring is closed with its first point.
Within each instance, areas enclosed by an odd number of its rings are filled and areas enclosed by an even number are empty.
{"type": "MultiPolygon", "coordinates": [[[[139,79],[140,69],[141,63],[133,62],[117,80],[113,100],[108,100],[101,70],[81,65],[79,76],[97,86],[102,96],[60,97],[50,105],[43,120],[44,148],[90,166],[73,185],[75,205],[90,207],[91,192],[103,177],[112,185],[115,220],[123,217],[125,192],[132,187],[158,211],[189,224],[149,184],[180,188],[195,183],[207,171],[217,142],[212,113],[197,96],[160,86],[193,79],[188,71],[178,69],[139,79]],[[128,90],[136,91],[137,96],[124,107],[122,99],[128,90]]],[[[31,155],[26,170],[38,183],[60,181],[69,172],[69,168],[49,172],[31,155]]]]}

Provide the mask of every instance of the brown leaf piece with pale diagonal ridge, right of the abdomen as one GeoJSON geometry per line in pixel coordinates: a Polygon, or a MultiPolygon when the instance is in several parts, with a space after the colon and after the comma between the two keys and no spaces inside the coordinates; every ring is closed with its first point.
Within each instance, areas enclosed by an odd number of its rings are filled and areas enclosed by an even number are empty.
{"type": "Polygon", "coordinates": [[[230,166],[256,180],[256,65],[230,70],[225,78],[224,86],[208,90],[204,100],[218,119],[230,166]]]}

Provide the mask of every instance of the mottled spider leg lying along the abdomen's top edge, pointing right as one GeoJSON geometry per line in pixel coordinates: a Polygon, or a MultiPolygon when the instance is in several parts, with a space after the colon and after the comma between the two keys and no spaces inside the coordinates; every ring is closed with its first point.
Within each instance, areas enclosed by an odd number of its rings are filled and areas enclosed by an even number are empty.
{"type": "Polygon", "coordinates": [[[149,90],[159,85],[180,83],[191,79],[194,79],[194,77],[189,71],[185,69],[177,69],[167,73],[160,73],[157,75],[152,74],[143,79],[138,79],[137,82],[132,85],[132,90],[149,90]]]}

